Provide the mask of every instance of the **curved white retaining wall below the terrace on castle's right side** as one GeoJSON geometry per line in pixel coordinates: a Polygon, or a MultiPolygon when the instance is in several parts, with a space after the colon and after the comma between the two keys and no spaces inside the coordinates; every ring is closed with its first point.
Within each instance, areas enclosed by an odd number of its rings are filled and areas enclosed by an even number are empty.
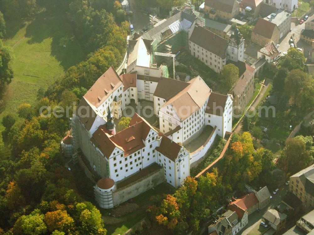
{"type": "Polygon", "coordinates": [[[190,153],[190,167],[191,168],[197,166],[199,163],[202,162],[204,156],[206,156],[208,149],[214,143],[214,139],[216,135],[217,135],[217,126],[214,127],[212,133],[210,133],[206,142],[197,150],[190,153]]]}

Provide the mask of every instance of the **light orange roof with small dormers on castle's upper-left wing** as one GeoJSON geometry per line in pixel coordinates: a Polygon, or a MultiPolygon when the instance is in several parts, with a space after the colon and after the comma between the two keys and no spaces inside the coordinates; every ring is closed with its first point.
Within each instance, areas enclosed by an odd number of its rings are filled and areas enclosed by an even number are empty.
{"type": "Polygon", "coordinates": [[[103,75],[101,75],[94,85],[84,95],[84,98],[95,105],[100,106],[119,86],[122,81],[116,70],[111,66],[103,75]]]}

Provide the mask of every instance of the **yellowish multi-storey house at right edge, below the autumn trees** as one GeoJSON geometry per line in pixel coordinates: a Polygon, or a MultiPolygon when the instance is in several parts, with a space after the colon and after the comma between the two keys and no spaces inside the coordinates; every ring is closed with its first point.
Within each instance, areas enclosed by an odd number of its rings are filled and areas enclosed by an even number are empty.
{"type": "Polygon", "coordinates": [[[314,165],[290,176],[289,190],[301,201],[305,210],[314,208],[314,165]]]}

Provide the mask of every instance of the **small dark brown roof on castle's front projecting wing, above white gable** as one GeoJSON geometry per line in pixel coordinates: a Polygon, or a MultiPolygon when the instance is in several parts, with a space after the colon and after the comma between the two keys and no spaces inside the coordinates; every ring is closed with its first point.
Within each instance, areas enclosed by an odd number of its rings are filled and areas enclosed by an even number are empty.
{"type": "Polygon", "coordinates": [[[160,146],[156,147],[156,150],[163,154],[165,157],[175,162],[181,150],[181,146],[176,142],[172,141],[171,139],[169,139],[164,134],[159,133],[159,135],[162,136],[162,139],[160,142],[160,146]]]}

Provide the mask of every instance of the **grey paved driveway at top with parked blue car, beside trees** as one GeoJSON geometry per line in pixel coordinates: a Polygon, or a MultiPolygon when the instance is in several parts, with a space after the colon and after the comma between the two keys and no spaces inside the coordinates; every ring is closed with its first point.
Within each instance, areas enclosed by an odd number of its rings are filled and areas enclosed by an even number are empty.
{"type": "Polygon", "coordinates": [[[136,0],[128,0],[130,9],[133,11],[133,16],[130,16],[131,24],[133,24],[134,30],[140,32],[145,26],[149,24],[149,14],[143,13],[138,9],[136,0]]]}

